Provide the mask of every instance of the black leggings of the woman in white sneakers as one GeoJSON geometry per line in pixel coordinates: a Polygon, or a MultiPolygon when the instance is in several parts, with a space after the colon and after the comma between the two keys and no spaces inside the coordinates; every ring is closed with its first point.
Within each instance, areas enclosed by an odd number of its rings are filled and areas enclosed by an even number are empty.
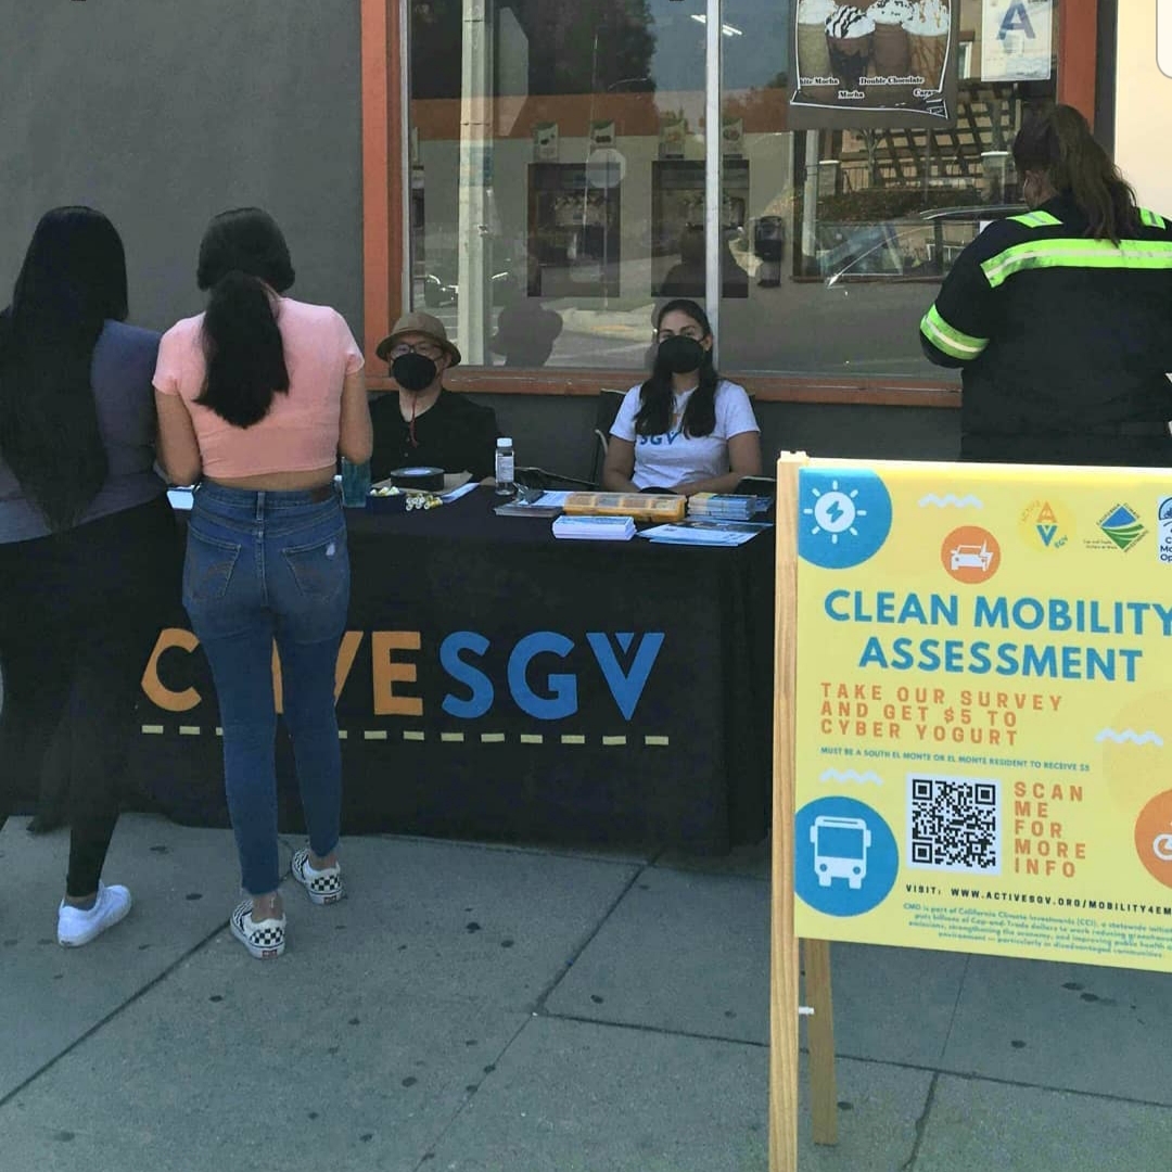
{"type": "Polygon", "coordinates": [[[166,497],[77,529],[0,544],[0,824],[35,782],[66,716],[71,897],[97,890],[118,817],[143,668],[179,598],[180,545],[166,497]]]}

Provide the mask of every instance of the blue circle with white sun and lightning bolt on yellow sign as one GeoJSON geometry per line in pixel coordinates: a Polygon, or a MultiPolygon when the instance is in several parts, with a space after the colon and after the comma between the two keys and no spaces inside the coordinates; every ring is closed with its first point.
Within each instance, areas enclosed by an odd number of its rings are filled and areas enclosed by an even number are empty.
{"type": "Polygon", "coordinates": [[[875,472],[804,468],[798,477],[798,556],[846,570],[875,554],[891,532],[891,495],[875,472]]]}

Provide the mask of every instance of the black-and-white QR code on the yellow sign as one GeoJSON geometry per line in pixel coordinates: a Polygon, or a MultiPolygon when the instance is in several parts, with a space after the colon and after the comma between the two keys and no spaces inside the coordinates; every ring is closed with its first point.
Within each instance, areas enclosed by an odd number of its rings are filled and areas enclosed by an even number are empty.
{"type": "Polygon", "coordinates": [[[1001,873],[1001,785],[967,777],[907,778],[907,865],[1001,873]]]}

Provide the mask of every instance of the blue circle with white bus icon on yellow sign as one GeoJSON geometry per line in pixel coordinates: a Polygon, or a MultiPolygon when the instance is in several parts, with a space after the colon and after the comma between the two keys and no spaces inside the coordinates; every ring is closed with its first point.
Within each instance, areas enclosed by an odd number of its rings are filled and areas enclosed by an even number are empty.
{"type": "Polygon", "coordinates": [[[793,888],[826,915],[861,915],[886,899],[899,847],[884,817],[853,798],[818,798],[795,819],[793,888]]]}

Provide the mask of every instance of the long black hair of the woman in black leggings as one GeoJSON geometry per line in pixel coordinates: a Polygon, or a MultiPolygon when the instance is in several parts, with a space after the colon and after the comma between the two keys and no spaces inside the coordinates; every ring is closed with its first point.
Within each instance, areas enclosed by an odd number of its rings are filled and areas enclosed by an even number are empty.
{"type": "Polygon", "coordinates": [[[0,314],[0,456],[53,531],[69,529],[109,471],[90,383],[108,319],[127,318],[127,258],[91,207],[41,217],[0,314]]]}

